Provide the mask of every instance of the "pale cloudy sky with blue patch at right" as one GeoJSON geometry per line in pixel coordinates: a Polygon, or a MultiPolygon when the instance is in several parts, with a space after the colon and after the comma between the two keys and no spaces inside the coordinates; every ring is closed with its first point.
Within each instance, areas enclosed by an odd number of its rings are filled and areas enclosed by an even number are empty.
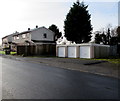
{"type": "MultiPolygon", "coordinates": [[[[0,39],[15,31],[56,24],[64,33],[64,20],[77,0],[0,0],[0,39]]],[[[118,25],[119,0],[80,0],[88,5],[93,31],[118,25]],[[90,1],[90,2],[89,2],[90,1]]],[[[1,43],[1,40],[0,40],[1,43]]]]}

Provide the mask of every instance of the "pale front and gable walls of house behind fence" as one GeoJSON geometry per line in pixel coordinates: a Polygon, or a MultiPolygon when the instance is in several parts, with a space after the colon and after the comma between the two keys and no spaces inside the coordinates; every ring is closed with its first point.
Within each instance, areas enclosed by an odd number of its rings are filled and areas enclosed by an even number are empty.
{"type": "Polygon", "coordinates": [[[26,40],[28,41],[54,41],[54,33],[47,28],[41,27],[35,30],[32,30],[29,33],[18,34],[12,37],[12,42],[14,43],[25,43],[26,40]],[[26,37],[23,38],[23,35],[26,34],[26,37]],[[46,38],[44,38],[44,34],[46,34],[46,38]],[[14,39],[14,37],[19,37],[19,39],[14,39]]]}

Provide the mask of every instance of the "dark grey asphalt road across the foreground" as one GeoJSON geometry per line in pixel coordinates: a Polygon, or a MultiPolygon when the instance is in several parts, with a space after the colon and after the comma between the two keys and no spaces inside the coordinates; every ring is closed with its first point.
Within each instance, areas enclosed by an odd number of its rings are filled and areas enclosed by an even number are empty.
{"type": "Polygon", "coordinates": [[[118,79],[0,57],[2,99],[117,99],[118,79]]]}

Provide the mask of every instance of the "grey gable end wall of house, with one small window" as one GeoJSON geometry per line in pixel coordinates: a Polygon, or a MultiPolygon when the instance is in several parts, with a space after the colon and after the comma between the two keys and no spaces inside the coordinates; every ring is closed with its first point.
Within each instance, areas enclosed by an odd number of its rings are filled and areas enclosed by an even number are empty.
{"type": "Polygon", "coordinates": [[[54,33],[44,27],[34,30],[31,33],[31,40],[36,41],[54,41],[54,33]],[[46,38],[44,34],[46,33],[46,38]]]}

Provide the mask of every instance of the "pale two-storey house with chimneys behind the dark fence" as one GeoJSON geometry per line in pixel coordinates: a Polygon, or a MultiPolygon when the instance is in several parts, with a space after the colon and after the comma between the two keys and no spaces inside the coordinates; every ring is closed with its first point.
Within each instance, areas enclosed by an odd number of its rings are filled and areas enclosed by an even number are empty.
{"type": "Polygon", "coordinates": [[[51,30],[45,28],[45,27],[40,27],[30,30],[28,28],[27,31],[18,33],[13,35],[13,41],[14,43],[17,43],[18,45],[24,45],[26,43],[29,44],[51,44],[55,43],[54,41],[54,32],[51,30]]]}

